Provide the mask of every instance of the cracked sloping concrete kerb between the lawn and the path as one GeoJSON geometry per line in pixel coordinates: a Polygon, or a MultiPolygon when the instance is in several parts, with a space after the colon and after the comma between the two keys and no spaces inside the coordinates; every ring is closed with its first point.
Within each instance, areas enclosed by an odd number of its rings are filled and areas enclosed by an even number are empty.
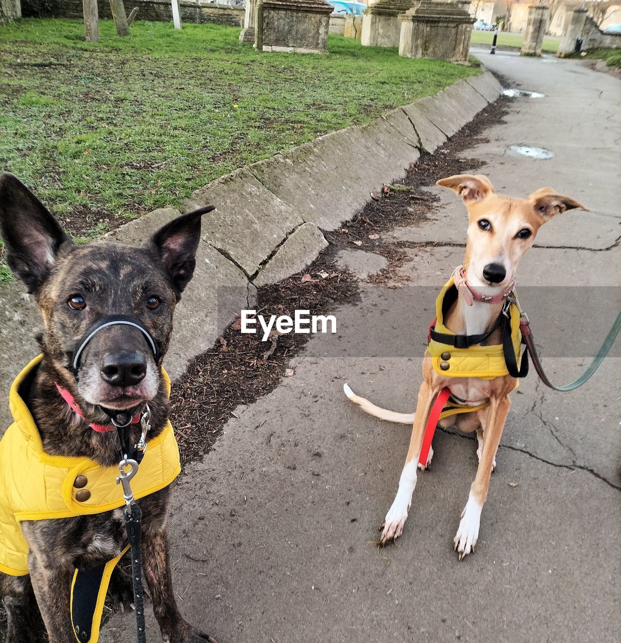
{"type": "MultiPolygon", "coordinates": [[[[334,230],[364,206],[369,192],[403,176],[420,151],[433,152],[500,95],[484,71],[436,96],[395,109],[372,123],[348,127],[276,154],[197,190],[186,210],[212,203],[203,219],[195,277],[177,307],[166,367],[173,379],[188,360],[213,345],[241,308],[251,307],[255,285],[278,282],[308,266],[327,245],[321,230],[334,230]]],[[[177,216],[161,208],[106,235],[142,244],[177,216]]],[[[21,284],[0,289],[0,395],[37,354],[33,331],[39,313],[21,284]]],[[[8,408],[0,410],[8,426],[8,408]]]]}

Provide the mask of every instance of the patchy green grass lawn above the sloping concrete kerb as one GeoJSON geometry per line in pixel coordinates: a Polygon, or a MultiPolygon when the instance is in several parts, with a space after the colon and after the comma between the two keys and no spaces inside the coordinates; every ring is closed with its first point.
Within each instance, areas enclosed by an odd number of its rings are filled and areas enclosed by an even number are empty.
{"type": "Polygon", "coordinates": [[[138,22],[121,39],[102,21],[100,36],[73,20],[0,25],[0,170],[84,240],[478,73],[336,35],[329,55],[258,54],[207,24],[138,22]]]}

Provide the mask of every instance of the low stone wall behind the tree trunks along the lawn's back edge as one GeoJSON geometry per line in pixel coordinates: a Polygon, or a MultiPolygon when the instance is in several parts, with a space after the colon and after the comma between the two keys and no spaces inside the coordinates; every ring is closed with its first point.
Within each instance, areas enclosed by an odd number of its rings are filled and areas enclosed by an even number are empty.
{"type": "MultiPolygon", "coordinates": [[[[82,18],[82,0],[48,0],[46,4],[49,5],[49,17],[82,18]]],[[[170,0],[123,0],[123,4],[127,14],[135,6],[139,8],[137,20],[172,22],[170,0]]],[[[28,6],[24,6],[24,17],[33,15],[26,11],[28,6]]],[[[107,0],[99,0],[98,6],[100,18],[112,17],[107,0]]],[[[185,23],[228,24],[240,27],[244,22],[244,8],[241,5],[217,5],[205,0],[179,0],[179,10],[181,21],[185,23]]],[[[42,14],[39,12],[38,15],[42,14]]]]}

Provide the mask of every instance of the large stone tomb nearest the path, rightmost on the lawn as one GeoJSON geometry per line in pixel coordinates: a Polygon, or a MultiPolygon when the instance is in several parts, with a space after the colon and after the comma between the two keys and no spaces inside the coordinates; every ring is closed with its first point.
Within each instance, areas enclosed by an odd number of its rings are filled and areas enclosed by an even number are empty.
{"type": "Polygon", "coordinates": [[[475,21],[468,4],[422,0],[399,15],[399,55],[467,62],[475,21]]]}

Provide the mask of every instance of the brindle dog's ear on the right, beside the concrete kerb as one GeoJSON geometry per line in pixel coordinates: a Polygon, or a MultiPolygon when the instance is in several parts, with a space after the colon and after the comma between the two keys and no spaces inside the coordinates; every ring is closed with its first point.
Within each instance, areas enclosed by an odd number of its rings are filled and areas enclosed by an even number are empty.
{"type": "Polygon", "coordinates": [[[215,206],[199,208],[160,228],[145,244],[154,253],[170,280],[177,301],[194,275],[196,251],[201,240],[201,217],[215,206]]]}

